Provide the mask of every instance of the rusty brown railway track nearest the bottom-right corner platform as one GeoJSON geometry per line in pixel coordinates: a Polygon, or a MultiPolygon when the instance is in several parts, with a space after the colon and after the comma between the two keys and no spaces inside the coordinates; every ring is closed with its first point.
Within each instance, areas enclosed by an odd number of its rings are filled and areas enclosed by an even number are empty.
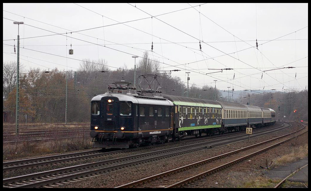
{"type": "Polygon", "coordinates": [[[187,166],[179,167],[171,171],[163,172],[158,175],[153,175],[151,177],[124,184],[116,188],[190,188],[193,181],[201,179],[203,176],[217,172],[238,162],[245,161],[246,159],[253,157],[254,155],[274,148],[282,143],[285,143],[295,137],[298,137],[299,135],[308,132],[308,130],[306,130],[302,133],[291,136],[292,134],[295,134],[300,130],[232,152],[228,152],[216,157],[211,157],[209,159],[199,161],[187,166]],[[287,138],[288,136],[291,137],[287,138]]]}

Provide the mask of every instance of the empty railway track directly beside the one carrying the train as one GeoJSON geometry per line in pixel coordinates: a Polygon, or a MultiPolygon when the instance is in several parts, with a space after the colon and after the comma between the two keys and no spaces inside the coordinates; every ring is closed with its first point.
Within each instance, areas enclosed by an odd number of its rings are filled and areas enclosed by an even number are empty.
{"type": "MultiPolygon", "coordinates": [[[[267,131],[266,133],[270,132],[267,131]]],[[[262,134],[264,133],[263,132],[257,133],[253,134],[252,136],[260,136],[262,134]]],[[[72,180],[81,180],[81,177],[83,177],[82,179],[91,178],[94,176],[98,176],[99,174],[102,173],[107,173],[108,171],[127,168],[129,166],[136,166],[142,163],[182,155],[184,153],[207,149],[210,148],[211,146],[228,144],[243,139],[248,139],[248,136],[244,135],[244,137],[239,138],[230,137],[227,140],[207,141],[203,143],[196,143],[177,148],[164,149],[160,151],[142,153],[128,157],[92,162],[77,166],[55,169],[51,171],[33,173],[30,175],[22,175],[18,177],[7,178],[3,179],[3,188],[12,188],[12,187],[34,188],[46,185],[49,185],[48,187],[54,187],[61,184],[68,184],[72,180]]]]}

